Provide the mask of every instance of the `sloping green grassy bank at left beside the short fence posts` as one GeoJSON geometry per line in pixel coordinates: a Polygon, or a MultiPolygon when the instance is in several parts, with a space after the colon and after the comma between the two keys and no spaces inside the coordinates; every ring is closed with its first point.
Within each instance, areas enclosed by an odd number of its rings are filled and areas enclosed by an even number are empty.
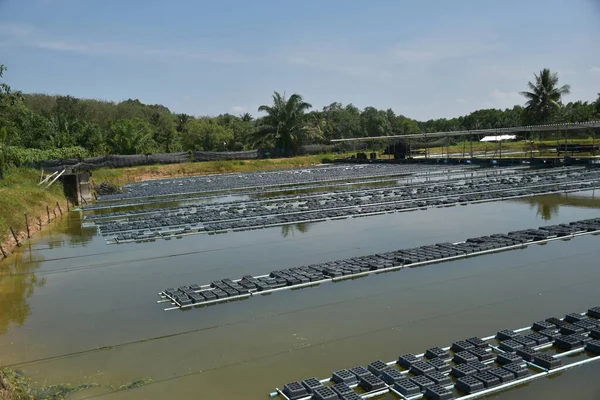
{"type": "Polygon", "coordinates": [[[0,180],[0,243],[5,251],[14,246],[10,227],[21,238],[27,236],[24,213],[29,216],[29,226],[35,231],[39,228],[39,220],[47,223],[46,205],[50,209],[59,202],[65,205],[65,196],[60,182],[55,182],[49,189],[39,186],[39,172],[33,169],[10,169],[5,171],[0,180]]]}

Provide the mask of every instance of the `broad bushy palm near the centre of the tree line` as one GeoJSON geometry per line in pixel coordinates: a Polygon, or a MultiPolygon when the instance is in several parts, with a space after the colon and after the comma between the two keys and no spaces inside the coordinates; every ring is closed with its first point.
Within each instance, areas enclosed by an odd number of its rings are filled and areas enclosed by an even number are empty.
{"type": "Polygon", "coordinates": [[[294,93],[289,99],[285,94],[273,93],[273,105],[262,105],[258,111],[264,111],[261,124],[256,132],[256,144],[273,143],[283,154],[291,156],[297,153],[300,142],[310,135],[306,126],[305,113],[312,106],[294,93]]]}

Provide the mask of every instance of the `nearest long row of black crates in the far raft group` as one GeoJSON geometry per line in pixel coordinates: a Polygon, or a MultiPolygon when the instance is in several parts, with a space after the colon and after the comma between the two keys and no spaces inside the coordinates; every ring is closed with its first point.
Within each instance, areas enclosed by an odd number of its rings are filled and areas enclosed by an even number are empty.
{"type": "MultiPolygon", "coordinates": [[[[417,198],[373,200],[369,203],[352,204],[340,201],[334,205],[319,204],[308,209],[247,211],[244,215],[229,215],[214,210],[195,213],[149,216],[146,219],[107,223],[99,226],[99,232],[108,244],[144,242],[170,239],[206,233],[224,233],[262,229],[303,222],[320,222],[331,219],[365,217],[371,215],[414,211],[430,207],[452,207],[459,204],[475,204],[498,200],[525,198],[553,193],[569,193],[600,187],[600,174],[585,181],[565,179],[562,183],[544,185],[514,185],[509,189],[479,188],[463,193],[423,194],[417,198]],[[350,205],[343,205],[343,204],[350,205]],[[204,222],[206,221],[206,222],[204,222]]],[[[357,201],[358,202],[358,201],[357,201]]]]}

